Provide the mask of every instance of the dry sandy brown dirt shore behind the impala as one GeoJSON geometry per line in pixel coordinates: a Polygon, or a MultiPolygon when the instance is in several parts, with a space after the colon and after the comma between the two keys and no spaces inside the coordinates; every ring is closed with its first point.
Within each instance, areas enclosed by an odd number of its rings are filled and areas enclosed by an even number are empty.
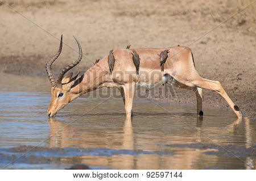
{"type": "MultiPolygon", "coordinates": [[[[243,115],[255,119],[256,3],[197,40],[250,2],[5,1],[0,3],[0,71],[46,76],[44,66],[56,53],[59,40],[55,37],[62,33],[65,45],[53,66],[56,74],[77,57],[72,35],[84,50],[74,71],[85,71],[96,58],[127,44],[133,48],[185,45],[193,51],[199,74],[220,81],[243,115]]],[[[177,102],[195,104],[193,92],[176,92],[177,102]]],[[[228,108],[219,95],[208,90],[203,103],[228,108]]]]}

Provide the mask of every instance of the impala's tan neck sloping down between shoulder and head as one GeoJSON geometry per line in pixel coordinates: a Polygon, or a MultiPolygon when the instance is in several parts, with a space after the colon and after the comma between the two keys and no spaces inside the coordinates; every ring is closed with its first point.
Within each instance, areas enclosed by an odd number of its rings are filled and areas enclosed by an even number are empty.
{"type": "Polygon", "coordinates": [[[109,82],[109,72],[102,69],[101,66],[92,66],[84,73],[81,82],[71,89],[72,100],[87,92],[104,87],[105,82],[109,82]]]}

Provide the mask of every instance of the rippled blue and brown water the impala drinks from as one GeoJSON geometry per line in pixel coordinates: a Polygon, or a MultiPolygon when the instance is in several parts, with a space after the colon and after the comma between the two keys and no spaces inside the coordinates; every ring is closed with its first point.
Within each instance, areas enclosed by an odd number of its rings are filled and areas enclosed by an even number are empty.
{"type": "Polygon", "coordinates": [[[125,119],[122,98],[82,97],[48,119],[44,78],[3,74],[0,79],[0,167],[65,169],[253,169],[256,124],[233,112],[135,99],[125,119]],[[3,78],[4,77],[4,78],[3,78]]]}

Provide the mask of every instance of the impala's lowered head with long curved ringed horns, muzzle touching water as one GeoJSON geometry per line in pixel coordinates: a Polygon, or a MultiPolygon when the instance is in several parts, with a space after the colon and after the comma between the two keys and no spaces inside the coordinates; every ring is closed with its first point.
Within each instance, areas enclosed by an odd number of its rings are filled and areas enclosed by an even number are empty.
{"type": "Polygon", "coordinates": [[[60,71],[57,81],[52,74],[51,66],[53,62],[60,56],[61,49],[62,49],[62,35],[60,40],[60,48],[57,54],[53,58],[51,58],[51,60],[49,60],[46,64],[46,71],[52,86],[51,88],[52,99],[49,104],[49,108],[47,112],[49,117],[55,116],[60,109],[64,108],[69,102],[71,102],[73,99],[76,98],[76,95],[72,93],[72,86],[75,85],[77,76],[79,74],[77,74],[75,77],[72,77],[73,73],[69,73],[64,77],[64,74],[67,73],[68,70],[72,69],[74,66],[79,64],[79,62],[82,59],[81,45],[76,38],[75,40],[79,46],[79,58],[77,58],[77,60],[73,62],[71,65],[68,65],[66,68],[60,71]]]}

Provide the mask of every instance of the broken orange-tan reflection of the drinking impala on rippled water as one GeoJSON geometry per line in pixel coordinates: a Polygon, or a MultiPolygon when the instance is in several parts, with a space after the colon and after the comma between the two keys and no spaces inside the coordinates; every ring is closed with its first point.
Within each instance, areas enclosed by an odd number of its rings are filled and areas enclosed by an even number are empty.
{"type": "MultiPolygon", "coordinates": [[[[238,120],[234,121],[233,124],[229,125],[229,128],[236,127],[237,124],[241,122],[238,120]]],[[[187,136],[184,138],[181,135],[174,132],[173,134],[167,134],[166,132],[156,131],[144,131],[143,133],[137,133],[133,129],[133,125],[130,119],[123,121],[114,122],[114,127],[110,130],[108,128],[102,127],[102,125],[91,125],[85,126],[79,124],[68,124],[63,121],[58,121],[56,119],[49,119],[49,124],[51,128],[51,138],[49,138],[50,147],[79,147],[79,148],[106,148],[113,150],[144,150],[144,151],[172,151],[177,150],[175,154],[114,154],[114,155],[84,155],[77,159],[79,162],[94,165],[94,166],[104,166],[111,167],[115,169],[195,169],[195,161],[204,163],[205,159],[209,160],[209,163],[214,163],[218,165],[218,157],[212,155],[205,155],[203,152],[205,149],[179,149],[172,146],[159,147],[156,142],[160,141],[164,143],[163,145],[168,145],[175,140],[179,142],[184,142],[186,144],[193,144],[195,142],[201,142],[204,138],[202,134],[202,120],[197,119],[196,129],[191,129],[187,134],[189,134],[189,143],[187,141],[187,136]],[[123,129],[120,130],[119,128],[123,129]],[[64,129],[63,129],[64,128],[64,129]],[[108,129],[106,131],[106,129],[108,129]],[[57,133],[57,131],[61,132],[57,133]],[[177,136],[176,136],[177,134],[177,136]],[[155,135],[155,136],[154,136],[155,135]],[[182,140],[185,139],[185,140],[182,140]],[[170,141],[172,140],[172,141],[170,141]],[[209,158],[210,157],[210,158],[209,158]],[[198,161],[201,160],[201,161],[198,161]]],[[[141,125],[143,126],[143,125],[141,125]]],[[[136,127],[138,128],[138,126],[136,127]]],[[[232,130],[228,130],[228,132],[232,130]]],[[[225,130],[225,129],[224,129],[225,130]]],[[[250,130],[250,128],[248,128],[250,130]]],[[[247,129],[246,129],[247,131],[247,129]]],[[[179,132],[179,130],[177,130],[179,132]]],[[[225,134],[225,133],[223,133],[225,134]]],[[[251,136],[246,133],[246,142],[251,144],[251,136]]],[[[218,144],[221,140],[213,140],[214,144],[218,144]]],[[[246,145],[247,145],[246,144],[246,145]]],[[[171,152],[172,153],[172,152],[171,152]]],[[[236,159],[236,158],[235,158],[236,159]]],[[[228,160],[229,161],[229,160],[228,160]]],[[[223,158],[221,160],[223,162],[223,158]]],[[[250,164],[253,167],[253,161],[250,157],[246,158],[246,164],[250,164]]],[[[245,164],[245,167],[247,165],[245,164]]],[[[206,166],[206,165],[202,165],[206,166]]]]}

